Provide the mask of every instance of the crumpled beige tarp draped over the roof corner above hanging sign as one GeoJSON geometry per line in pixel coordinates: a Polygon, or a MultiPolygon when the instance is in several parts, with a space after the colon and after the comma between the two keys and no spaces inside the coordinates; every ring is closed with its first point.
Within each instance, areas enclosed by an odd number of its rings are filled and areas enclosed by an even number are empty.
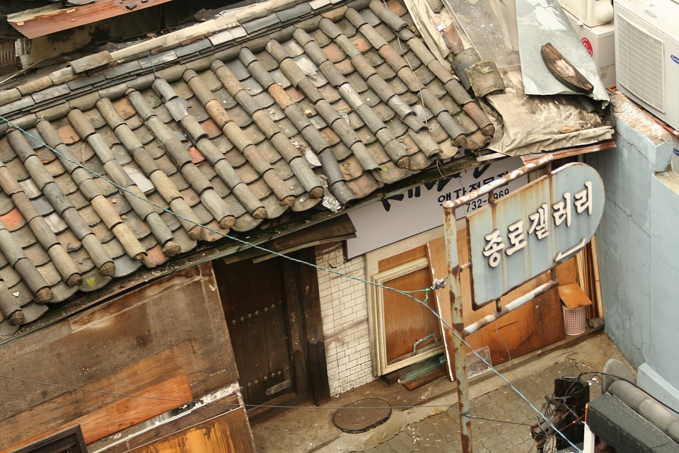
{"type": "Polygon", "coordinates": [[[613,137],[613,129],[603,125],[586,96],[526,96],[521,72],[501,73],[506,86],[504,93],[485,97],[492,108],[482,105],[495,124],[489,149],[522,156],[613,137]]]}

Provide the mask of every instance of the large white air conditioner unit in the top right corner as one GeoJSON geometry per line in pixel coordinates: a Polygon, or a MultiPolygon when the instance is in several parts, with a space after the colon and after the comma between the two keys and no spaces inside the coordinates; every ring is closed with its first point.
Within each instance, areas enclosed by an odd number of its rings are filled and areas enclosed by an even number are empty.
{"type": "Polygon", "coordinates": [[[617,88],[671,127],[679,128],[679,4],[615,1],[617,88]]]}

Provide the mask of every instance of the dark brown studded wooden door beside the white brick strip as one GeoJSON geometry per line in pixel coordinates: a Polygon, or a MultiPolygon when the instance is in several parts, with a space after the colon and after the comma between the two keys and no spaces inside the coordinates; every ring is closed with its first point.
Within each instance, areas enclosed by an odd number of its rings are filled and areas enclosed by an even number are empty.
{"type": "Polygon", "coordinates": [[[306,382],[295,370],[305,365],[293,361],[291,338],[298,332],[288,322],[283,258],[230,265],[216,260],[214,269],[245,404],[306,400],[306,382]]]}

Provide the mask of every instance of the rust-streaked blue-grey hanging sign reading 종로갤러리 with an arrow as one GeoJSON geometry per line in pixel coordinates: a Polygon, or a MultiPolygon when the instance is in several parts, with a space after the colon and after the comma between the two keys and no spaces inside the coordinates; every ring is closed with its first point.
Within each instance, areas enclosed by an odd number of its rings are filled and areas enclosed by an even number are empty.
{"type": "Polygon", "coordinates": [[[572,163],[471,214],[475,306],[499,299],[583,248],[603,203],[596,170],[572,163]]]}

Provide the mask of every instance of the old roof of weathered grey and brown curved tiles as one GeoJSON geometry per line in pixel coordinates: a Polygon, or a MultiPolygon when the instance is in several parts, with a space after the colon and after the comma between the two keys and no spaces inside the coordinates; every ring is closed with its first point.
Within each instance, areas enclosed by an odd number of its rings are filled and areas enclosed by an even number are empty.
{"type": "Polygon", "coordinates": [[[347,205],[492,137],[397,1],[269,4],[0,92],[0,336],[200,241],[325,210],[324,194],[347,205]]]}

